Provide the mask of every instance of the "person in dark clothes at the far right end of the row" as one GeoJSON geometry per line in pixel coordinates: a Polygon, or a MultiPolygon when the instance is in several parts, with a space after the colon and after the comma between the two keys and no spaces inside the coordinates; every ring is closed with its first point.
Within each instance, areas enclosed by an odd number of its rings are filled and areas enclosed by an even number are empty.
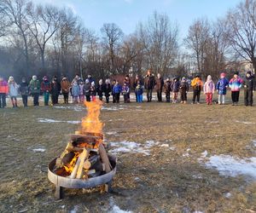
{"type": "Polygon", "coordinates": [[[253,90],[255,91],[255,80],[252,72],[247,71],[244,81],[244,105],[253,107],[253,90]]]}

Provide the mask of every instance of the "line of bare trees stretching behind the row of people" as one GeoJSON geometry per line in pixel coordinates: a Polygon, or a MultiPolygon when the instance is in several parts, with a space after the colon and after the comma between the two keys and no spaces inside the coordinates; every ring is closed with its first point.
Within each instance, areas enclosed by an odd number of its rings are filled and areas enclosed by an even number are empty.
{"type": "Polygon", "coordinates": [[[245,60],[256,67],[256,1],[241,1],[216,21],[195,20],[179,43],[177,23],[154,12],[125,35],[114,23],[101,32],[87,29],[70,9],[28,0],[0,0],[0,74],[40,78],[63,74],[94,78],[143,74],[211,74],[238,69],[245,60]],[[181,45],[186,49],[183,50],[181,45]],[[143,72],[143,73],[142,73],[143,72]]]}

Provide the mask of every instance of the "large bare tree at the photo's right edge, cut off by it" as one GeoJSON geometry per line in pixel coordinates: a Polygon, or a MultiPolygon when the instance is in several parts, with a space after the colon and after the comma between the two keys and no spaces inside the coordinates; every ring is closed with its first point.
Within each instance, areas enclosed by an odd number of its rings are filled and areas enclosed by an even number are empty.
{"type": "Polygon", "coordinates": [[[241,59],[253,63],[256,70],[256,1],[246,0],[227,14],[226,36],[241,59]]]}

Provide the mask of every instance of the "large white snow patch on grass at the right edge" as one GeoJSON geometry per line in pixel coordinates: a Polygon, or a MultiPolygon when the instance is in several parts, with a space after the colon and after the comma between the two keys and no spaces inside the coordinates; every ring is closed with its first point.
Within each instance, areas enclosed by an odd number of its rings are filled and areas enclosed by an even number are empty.
{"type": "Polygon", "coordinates": [[[223,176],[252,176],[256,179],[256,158],[234,158],[230,155],[214,155],[206,163],[207,168],[218,170],[223,176]]]}

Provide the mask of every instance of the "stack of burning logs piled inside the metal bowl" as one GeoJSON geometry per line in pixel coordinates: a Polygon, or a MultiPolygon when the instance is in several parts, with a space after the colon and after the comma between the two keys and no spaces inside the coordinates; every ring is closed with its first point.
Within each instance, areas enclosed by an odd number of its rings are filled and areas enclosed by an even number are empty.
{"type": "Polygon", "coordinates": [[[57,176],[87,180],[113,170],[101,133],[76,131],[70,139],[64,152],[56,158],[53,172],[57,176]]]}

